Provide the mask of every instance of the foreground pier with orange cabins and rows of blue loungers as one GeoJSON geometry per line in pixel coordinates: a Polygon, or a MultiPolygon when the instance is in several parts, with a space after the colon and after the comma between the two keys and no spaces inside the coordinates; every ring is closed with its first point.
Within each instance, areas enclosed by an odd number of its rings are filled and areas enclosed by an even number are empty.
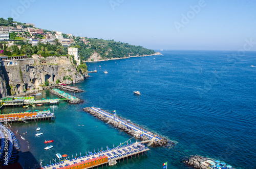
{"type": "Polygon", "coordinates": [[[117,161],[126,160],[131,157],[136,158],[139,156],[143,156],[143,154],[147,154],[147,151],[150,151],[147,147],[145,147],[141,142],[136,142],[132,144],[127,144],[125,146],[118,146],[113,149],[109,149],[107,147],[106,151],[99,151],[97,153],[88,152],[85,156],[75,157],[74,159],[66,158],[65,161],[61,161],[59,163],[48,164],[46,166],[42,166],[42,168],[46,169],[70,169],[70,168],[93,168],[103,165],[111,166],[115,165],[117,161]]]}

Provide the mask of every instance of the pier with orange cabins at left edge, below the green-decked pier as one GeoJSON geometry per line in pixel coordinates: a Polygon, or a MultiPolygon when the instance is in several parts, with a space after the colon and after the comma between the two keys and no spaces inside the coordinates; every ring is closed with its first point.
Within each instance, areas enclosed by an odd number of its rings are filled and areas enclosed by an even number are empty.
{"type": "Polygon", "coordinates": [[[0,115],[0,123],[28,123],[32,121],[51,120],[55,119],[54,112],[50,110],[45,111],[34,111],[34,112],[20,112],[20,113],[9,113],[0,115]]]}

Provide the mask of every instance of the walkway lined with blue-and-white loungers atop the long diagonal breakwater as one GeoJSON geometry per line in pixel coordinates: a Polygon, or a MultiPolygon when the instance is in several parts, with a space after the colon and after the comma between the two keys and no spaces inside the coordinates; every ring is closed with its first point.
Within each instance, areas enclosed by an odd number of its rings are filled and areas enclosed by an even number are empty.
{"type": "Polygon", "coordinates": [[[118,122],[118,123],[120,123],[120,124],[126,126],[126,127],[129,128],[129,129],[132,129],[132,130],[136,131],[136,133],[137,133],[138,135],[140,135],[140,136],[142,136],[142,135],[147,136],[147,137],[149,138],[149,140],[147,140],[147,142],[150,142],[150,140],[151,140],[153,137],[154,137],[154,141],[158,141],[158,140],[161,139],[160,137],[157,137],[157,136],[154,135],[153,133],[151,133],[151,132],[149,132],[149,131],[146,131],[146,130],[143,130],[143,129],[141,129],[141,128],[137,127],[137,126],[134,126],[134,125],[132,125],[132,124],[129,124],[129,122],[124,121],[123,119],[120,119],[120,118],[116,117],[115,115],[110,114],[110,113],[108,113],[108,112],[106,112],[106,111],[104,111],[104,110],[101,110],[101,109],[95,108],[95,107],[91,107],[91,109],[94,110],[94,111],[96,111],[96,112],[98,112],[98,113],[100,113],[100,114],[102,114],[102,115],[104,115],[104,116],[106,116],[106,117],[109,117],[110,119],[115,120],[116,122],[118,122]]]}

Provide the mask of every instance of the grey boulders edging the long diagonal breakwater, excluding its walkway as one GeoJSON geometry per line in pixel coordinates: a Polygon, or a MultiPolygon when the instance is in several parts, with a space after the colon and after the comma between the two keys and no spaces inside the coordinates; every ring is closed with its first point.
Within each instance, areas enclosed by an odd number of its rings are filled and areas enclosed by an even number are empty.
{"type": "MultiPolygon", "coordinates": [[[[130,135],[132,135],[132,136],[136,135],[136,132],[134,130],[128,129],[126,126],[116,122],[115,120],[111,120],[110,121],[109,117],[106,117],[106,116],[98,113],[97,111],[92,110],[90,107],[84,108],[83,111],[92,114],[93,116],[99,118],[103,122],[108,123],[108,124],[118,128],[118,129],[120,129],[120,130],[122,130],[122,131],[124,131],[124,132],[126,132],[126,133],[128,133],[130,135]]],[[[116,116],[116,117],[118,117],[118,116],[116,116]]],[[[132,124],[131,122],[129,122],[129,123],[132,124]]],[[[136,124],[133,124],[133,125],[136,125],[136,124]]],[[[144,140],[144,141],[149,139],[147,136],[136,136],[136,138],[140,139],[140,140],[144,140]]],[[[168,146],[169,147],[169,146],[175,146],[175,143],[174,142],[170,142],[165,137],[161,136],[161,139],[156,141],[156,142],[154,142],[152,145],[154,147],[162,147],[162,146],[168,146]]]]}

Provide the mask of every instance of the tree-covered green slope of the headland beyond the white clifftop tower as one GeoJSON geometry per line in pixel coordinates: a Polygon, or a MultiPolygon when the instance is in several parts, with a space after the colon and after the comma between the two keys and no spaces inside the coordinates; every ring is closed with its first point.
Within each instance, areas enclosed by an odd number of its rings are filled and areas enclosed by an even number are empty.
{"type": "Polygon", "coordinates": [[[80,46],[79,56],[81,57],[81,60],[87,60],[94,52],[100,54],[103,59],[123,58],[136,55],[151,55],[155,53],[153,50],[145,49],[142,46],[115,42],[114,40],[103,40],[97,38],[86,38],[86,40],[90,41],[90,43],[84,44],[80,41],[80,37],[75,39],[75,44],[80,46]]]}

